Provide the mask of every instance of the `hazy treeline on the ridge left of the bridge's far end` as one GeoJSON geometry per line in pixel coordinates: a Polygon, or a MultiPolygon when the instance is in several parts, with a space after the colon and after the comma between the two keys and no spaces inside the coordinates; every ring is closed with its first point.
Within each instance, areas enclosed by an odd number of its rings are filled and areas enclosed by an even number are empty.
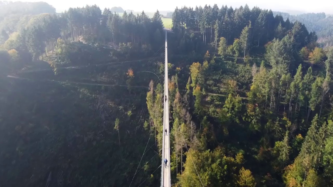
{"type": "Polygon", "coordinates": [[[40,57],[43,60],[49,52],[54,53],[59,45],[80,39],[88,44],[109,43],[116,48],[121,44],[120,47],[127,52],[133,48],[141,51],[141,54],[148,54],[163,45],[163,28],[159,11],[153,18],[149,18],[145,12],[140,15],[124,12],[119,16],[109,9],[105,8],[102,13],[98,6],[87,5],[84,8],[70,8],[60,16],[40,14],[33,17],[27,27],[12,33],[1,48],[15,50],[25,62],[31,59],[29,54],[33,60],[40,57]]]}

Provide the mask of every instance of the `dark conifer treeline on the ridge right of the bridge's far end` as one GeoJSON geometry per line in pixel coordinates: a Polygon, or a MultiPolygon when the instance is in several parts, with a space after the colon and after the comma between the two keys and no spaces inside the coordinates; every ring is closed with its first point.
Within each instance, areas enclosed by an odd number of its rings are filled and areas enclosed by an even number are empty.
{"type": "MultiPolygon", "coordinates": [[[[258,7],[249,9],[244,7],[233,9],[232,7],[214,6],[204,7],[182,7],[176,8],[172,16],[172,29],[175,31],[191,30],[202,34],[202,41],[214,43],[215,49],[219,38],[226,39],[227,44],[232,44],[236,38],[243,41],[243,48],[249,54],[264,52],[263,46],[267,42],[282,39],[289,33],[298,35],[295,42],[306,46],[316,42],[316,34],[308,32],[304,24],[300,22],[291,23],[289,19],[283,20],[282,16],[273,16],[271,10],[262,10],[258,7]],[[297,32],[297,33],[295,33],[297,32]],[[245,47],[245,43],[246,47],[245,47]]],[[[300,46],[298,46],[300,47],[300,46]]]]}

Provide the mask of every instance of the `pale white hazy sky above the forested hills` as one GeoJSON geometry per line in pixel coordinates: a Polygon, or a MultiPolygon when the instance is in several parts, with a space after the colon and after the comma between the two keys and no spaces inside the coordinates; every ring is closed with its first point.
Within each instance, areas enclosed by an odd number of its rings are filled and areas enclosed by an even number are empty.
{"type": "MultiPolygon", "coordinates": [[[[15,0],[14,0],[15,1],[15,0]]],[[[25,1],[25,0],[21,0],[25,1]]],[[[273,11],[301,11],[301,12],[325,12],[327,14],[333,14],[333,1],[332,0],[168,0],[168,1],[156,1],[156,0],[27,0],[30,2],[45,1],[56,8],[57,12],[63,12],[70,7],[82,7],[86,4],[98,5],[102,10],[107,7],[120,6],[124,10],[134,10],[145,12],[155,12],[157,9],[160,11],[173,11],[176,6],[204,6],[205,4],[217,4],[219,7],[222,5],[232,6],[233,8],[245,5],[246,3],[250,8],[258,6],[262,9],[272,9],[273,11]],[[143,3],[144,2],[144,3],[143,3]]]]}

